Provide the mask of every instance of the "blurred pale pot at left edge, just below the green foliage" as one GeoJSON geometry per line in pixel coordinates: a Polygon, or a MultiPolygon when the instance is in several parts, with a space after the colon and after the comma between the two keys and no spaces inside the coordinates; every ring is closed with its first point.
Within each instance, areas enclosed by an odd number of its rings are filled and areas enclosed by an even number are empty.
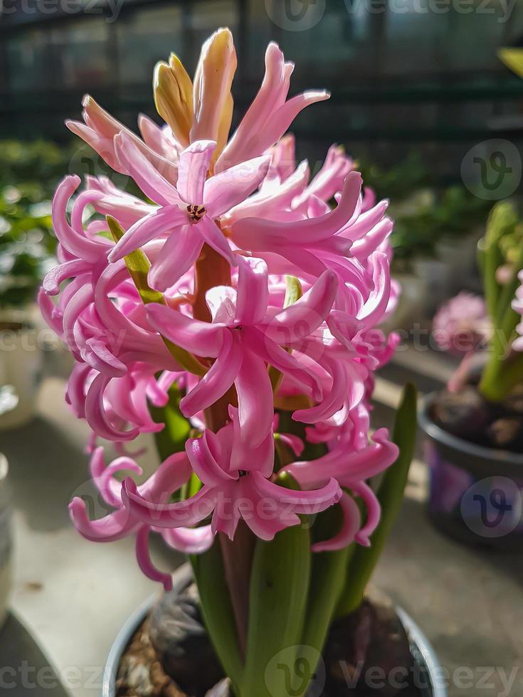
{"type": "Polygon", "coordinates": [[[43,354],[36,329],[23,312],[0,313],[0,388],[18,402],[0,414],[0,429],[29,422],[36,410],[36,394],[41,381],[43,354]]]}

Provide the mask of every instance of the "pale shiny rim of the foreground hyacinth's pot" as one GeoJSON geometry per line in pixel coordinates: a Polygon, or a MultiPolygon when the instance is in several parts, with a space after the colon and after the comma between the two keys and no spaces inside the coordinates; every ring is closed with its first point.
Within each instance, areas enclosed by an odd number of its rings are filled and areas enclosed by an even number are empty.
{"type": "MultiPolygon", "coordinates": [[[[178,569],[176,569],[173,574],[173,590],[179,590],[184,587],[186,582],[191,578],[191,573],[192,571],[189,563],[184,563],[178,569]]],[[[122,628],[112,643],[112,647],[107,656],[107,661],[105,663],[103,672],[101,697],[115,697],[116,678],[118,667],[120,666],[120,659],[122,658],[122,655],[132,638],[132,635],[134,632],[136,632],[139,625],[144,621],[144,617],[146,616],[147,612],[149,612],[157,600],[157,593],[150,595],[147,600],[144,600],[144,602],[142,602],[142,604],[139,605],[129,617],[127,617],[122,625],[122,628]]],[[[408,612],[403,610],[403,608],[399,607],[398,605],[395,606],[395,610],[411,643],[416,644],[416,647],[418,647],[421,655],[423,656],[423,661],[426,664],[428,674],[430,676],[432,697],[448,697],[447,688],[445,688],[443,685],[435,683],[436,677],[440,676],[442,671],[440,661],[438,660],[438,656],[436,655],[432,644],[430,644],[422,629],[418,627],[418,624],[414,622],[408,612]]]]}

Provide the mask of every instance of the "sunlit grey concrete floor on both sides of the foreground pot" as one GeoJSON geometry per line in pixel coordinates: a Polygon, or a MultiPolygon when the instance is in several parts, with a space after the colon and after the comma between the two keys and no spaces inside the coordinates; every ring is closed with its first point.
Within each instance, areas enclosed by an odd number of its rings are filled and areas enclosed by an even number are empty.
{"type": "MultiPolygon", "coordinates": [[[[409,366],[418,371],[423,390],[445,377],[448,366],[429,363],[418,365],[402,355],[385,371],[376,389],[375,425],[390,422],[397,385],[410,374],[409,366]]],[[[0,688],[16,697],[98,695],[105,657],[122,622],[159,592],[139,572],[132,541],[88,543],[70,526],[70,497],[89,490],[87,430],[68,412],[63,388],[62,377],[47,378],[36,420],[0,432],[0,450],[11,467],[15,533],[14,616],[0,634],[0,666],[16,671],[16,688],[9,692],[1,683],[0,688]],[[34,688],[28,666],[48,687],[34,688]],[[53,675],[63,690],[58,683],[50,689],[53,675]]],[[[450,697],[520,697],[522,557],[470,550],[441,536],[426,518],[425,498],[426,469],[418,460],[373,582],[415,617],[433,642],[450,676],[450,697]]],[[[162,546],[154,548],[154,557],[165,568],[181,563],[162,546]]]]}

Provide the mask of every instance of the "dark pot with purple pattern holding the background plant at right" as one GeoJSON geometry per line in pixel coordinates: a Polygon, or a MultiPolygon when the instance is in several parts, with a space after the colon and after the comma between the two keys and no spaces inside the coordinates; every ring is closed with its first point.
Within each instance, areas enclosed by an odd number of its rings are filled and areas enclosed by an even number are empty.
{"type": "Polygon", "coordinates": [[[521,549],[523,455],[475,445],[446,432],[430,415],[434,400],[434,394],[427,395],[418,412],[430,468],[430,518],[460,542],[521,549]]]}

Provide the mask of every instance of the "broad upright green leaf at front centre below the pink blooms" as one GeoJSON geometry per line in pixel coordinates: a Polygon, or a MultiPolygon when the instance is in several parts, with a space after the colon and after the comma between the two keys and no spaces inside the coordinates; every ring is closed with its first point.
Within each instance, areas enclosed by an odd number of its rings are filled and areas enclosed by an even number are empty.
{"type": "MultiPolygon", "coordinates": [[[[290,475],[278,483],[295,486],[290,475]]],[[[256,541],[242,696],[273,697],[277,692],[270,682],[280,679],[283,675],[283,672],[278,674],[280,671],[285,671],[291,679],[297,678],[295,664],[300,659],[307,610],[310,557],[310,534],[302,525],[282,530],[270,542],[256,541]],[[280,659],[280,671],[276,666],[274,671],[268,669],[275,656],[280,659]]],[[[305,687],[309,680],[310,676],[305,687]]]]}

